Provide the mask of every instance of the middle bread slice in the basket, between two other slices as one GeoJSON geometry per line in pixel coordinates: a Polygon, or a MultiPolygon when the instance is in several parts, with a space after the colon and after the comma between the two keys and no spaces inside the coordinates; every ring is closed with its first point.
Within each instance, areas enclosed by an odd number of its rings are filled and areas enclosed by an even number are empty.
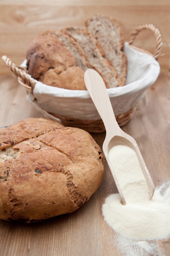
{"type": "Polygon", "coordinates": [[[78,27],[68,27],[62,29],[62,32],[75,38],[79,46],[83,49],[83,52],[87,57],[87,61],[93,64],[104,76],[108,88],[114,88],[122,85],[115,68],[111,66],[105,58],[103,58],[102,55],[104,52],[91,33],[78,27]]]}

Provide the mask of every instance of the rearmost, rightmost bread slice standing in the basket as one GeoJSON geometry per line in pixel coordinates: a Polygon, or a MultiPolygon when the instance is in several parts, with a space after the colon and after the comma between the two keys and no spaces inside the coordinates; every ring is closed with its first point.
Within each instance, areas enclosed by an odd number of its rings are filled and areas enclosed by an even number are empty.
{"type": "Polygon", "coordinates": [[[95,15],[85,21],[87,31],[93,34],[104,50],[123,85],[126,83],[127,59],[123,52],[124,38],[117,20],[109,16],[95,15]]]}

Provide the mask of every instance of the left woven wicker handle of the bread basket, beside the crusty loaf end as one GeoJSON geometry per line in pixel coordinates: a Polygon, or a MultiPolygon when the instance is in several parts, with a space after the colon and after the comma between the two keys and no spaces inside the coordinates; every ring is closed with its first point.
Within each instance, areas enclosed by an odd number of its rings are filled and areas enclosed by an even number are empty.
{"type": "Polygon", "coordinates": [[[18,67],[16,66],[11,60],[10,58],[8,58],[7,56],[2,56],[2,60],[4,61],[4,63],[7,65],[7,67],[10,68],[10,70],[16,75],[18,76],[22,81],[22,84],[24,85],[24,87],[26,88],[26,90],[33,92],[33,89],[35,87],[35,81],[33,81],[29,75],[27,75],[25,73],[25,69],[22,67],[18,67]]]}

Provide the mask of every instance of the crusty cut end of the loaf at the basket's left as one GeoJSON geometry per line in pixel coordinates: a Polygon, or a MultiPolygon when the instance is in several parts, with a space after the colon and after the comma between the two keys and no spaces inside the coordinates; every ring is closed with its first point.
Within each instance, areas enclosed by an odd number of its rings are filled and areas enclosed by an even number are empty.
{"type": "Polygon", "coordinates": [[[26,59],[28,73],[34,79],[58,88],[86,90],[84,70],[76,66],[71,52],[55,36],[44,34],[34,38],[26,59]]]}

